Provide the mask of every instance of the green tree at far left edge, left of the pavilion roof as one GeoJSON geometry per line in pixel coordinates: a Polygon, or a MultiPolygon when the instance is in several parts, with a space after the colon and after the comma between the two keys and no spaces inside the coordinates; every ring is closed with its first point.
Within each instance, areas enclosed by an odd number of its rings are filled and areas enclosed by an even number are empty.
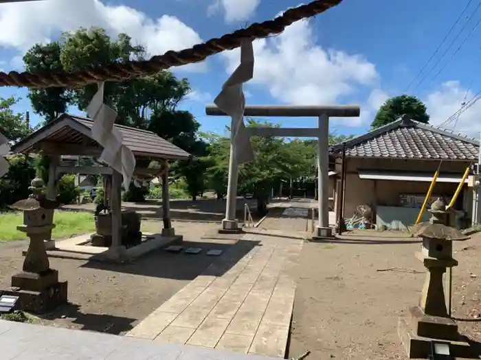
{"type": "Polygon", "coordinates": [[[12,106],[17,102],[19,99],[14,97],[8,99],[0,97],[0,132],[12,143],[16,143],[32,132],[24,115],[15,114],[12,110],[12,106]]]}

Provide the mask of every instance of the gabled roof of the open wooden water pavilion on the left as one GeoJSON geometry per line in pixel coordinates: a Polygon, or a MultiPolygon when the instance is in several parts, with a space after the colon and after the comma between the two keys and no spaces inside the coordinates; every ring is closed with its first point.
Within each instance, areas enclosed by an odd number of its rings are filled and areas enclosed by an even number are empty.
{"type": "MultiPolygon", "coordinates": [[[[92,139],[93,121],[85,117],[63,114],[12,146],[13,153],[100,156],[102,147],[92,139]]],[[[123,144],[135,158],[188,160],[192,156],[147,130],[115,124],[123,136],[123,144]]]]}

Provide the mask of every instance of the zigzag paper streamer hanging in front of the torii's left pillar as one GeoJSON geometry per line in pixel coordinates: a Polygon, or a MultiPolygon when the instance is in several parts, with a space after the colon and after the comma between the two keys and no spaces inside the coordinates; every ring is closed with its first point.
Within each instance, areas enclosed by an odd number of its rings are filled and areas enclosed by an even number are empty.
{"type": "Polygon", "coordinates": [[[243,40],[240,46],[240,65],[234,70],[222,86],[222,91],[214,99],[214,104],[232,118],[234,127],[232,141],[236,143],[236,160],[238,164],[254,160],[249,134],[244,124],[245,96],[243,84],[254,76],[254,49],[252,40],[243,40]]]}

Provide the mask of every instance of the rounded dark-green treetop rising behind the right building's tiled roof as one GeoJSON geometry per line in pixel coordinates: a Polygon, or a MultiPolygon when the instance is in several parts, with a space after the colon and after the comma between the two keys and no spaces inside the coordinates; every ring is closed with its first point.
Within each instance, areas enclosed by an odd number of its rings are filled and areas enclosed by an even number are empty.
{"type": "Polygon", "coordinates": [[[403,115],[409,115],[412,120],[421,123],[429,122],[426,106],[420,99],[410,95],[400,95],[385,101],[377,111],[371,127],[376,129],[388,125],[388,123],[398,120],[403,115]]]}

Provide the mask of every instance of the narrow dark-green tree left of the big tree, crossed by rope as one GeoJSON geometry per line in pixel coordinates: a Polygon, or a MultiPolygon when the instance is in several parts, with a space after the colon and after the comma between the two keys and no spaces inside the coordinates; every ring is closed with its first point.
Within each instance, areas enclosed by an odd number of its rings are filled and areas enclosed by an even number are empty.
{"type": "MultiPolygon", "coordinates": [[[[63,71],[62,62],[60,62],[61,49],[58,41],[35,44],[23,56],[25,71],[31,73],[63,71]]],[[[34,112],[41,115],[45,122],[52,121],[67,112],[72,101],[71,91],[64,87],[30,89],[27,97],[30,99],[34,112]]]]}

